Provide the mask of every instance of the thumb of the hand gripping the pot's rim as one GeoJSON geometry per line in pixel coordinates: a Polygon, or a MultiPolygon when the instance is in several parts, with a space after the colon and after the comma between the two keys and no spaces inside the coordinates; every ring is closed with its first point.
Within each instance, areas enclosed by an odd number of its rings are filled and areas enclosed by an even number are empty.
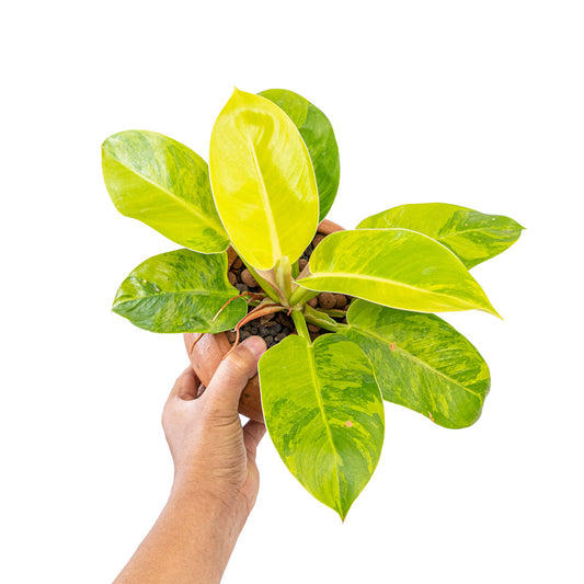
{"type": "Polygon", "coordinates": [[[217,367],[207,390],[199,398],[208,411],[237,415],[239,399],[248,381],[257,373],[257,362],[266,350],[260,336],[240,343],[217,367]]]}

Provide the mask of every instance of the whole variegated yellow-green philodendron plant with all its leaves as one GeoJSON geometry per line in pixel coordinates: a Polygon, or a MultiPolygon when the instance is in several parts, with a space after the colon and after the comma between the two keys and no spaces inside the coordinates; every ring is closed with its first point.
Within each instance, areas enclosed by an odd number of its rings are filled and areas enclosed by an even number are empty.
{"type": "Polygon", "coordinates": [[[183,247],[136,267],[114,311],[162,333],[239,330],[256,316],[289,313],[298,334],[260,360],[265,423],[290,472],[344,518],[379,460],[383,400],[449,428],[479,417],[489,368],[432,312],[496,316],[469,268],[507,249],[522,227],[456,205],[401,205],[328,236],[299,274],[339,169],[329,119],[285,90],[236,90],[215,123],[208,167],[152,131],[103,144],[117,209],[183,247]],[[262,294],[230,285],[229,245],[262,294]],[[322,291],[354,299],[346,311],[310,306],[322,291]],[[307,322],[334,334],[312,342],[307,322]]]}

